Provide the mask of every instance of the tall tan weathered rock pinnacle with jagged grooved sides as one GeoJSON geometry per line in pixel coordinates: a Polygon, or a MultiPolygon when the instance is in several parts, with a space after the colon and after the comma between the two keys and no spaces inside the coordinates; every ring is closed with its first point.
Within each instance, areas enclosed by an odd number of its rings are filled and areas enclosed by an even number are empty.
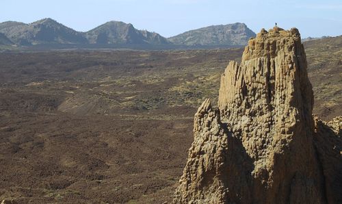
{"type": "Polygon", "coordinates": [[[341,118],[312,116],[298,29],[261,30],[194,118],[174,203],[342,203],[341,118]]]}

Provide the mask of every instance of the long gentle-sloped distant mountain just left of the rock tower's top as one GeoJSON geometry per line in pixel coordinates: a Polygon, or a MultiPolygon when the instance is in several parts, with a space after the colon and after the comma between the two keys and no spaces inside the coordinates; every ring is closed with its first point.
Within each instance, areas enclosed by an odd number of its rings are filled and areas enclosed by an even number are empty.
{"type": "Polygon", "coordinates": [[[255,33],[244,23],[211,25],[168,38],[179,45],[246,45],[255,33]]]}

